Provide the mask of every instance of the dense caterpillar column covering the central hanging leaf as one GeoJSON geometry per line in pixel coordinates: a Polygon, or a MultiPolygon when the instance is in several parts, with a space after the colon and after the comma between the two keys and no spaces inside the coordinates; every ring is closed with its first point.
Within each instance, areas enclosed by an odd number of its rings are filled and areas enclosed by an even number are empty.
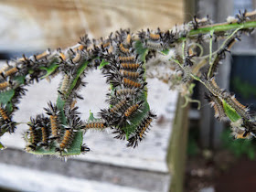
{"type": "MultiPolygon", "coordinates": [[[[150,32],[148,35],[153,36],[150,32]]],[[[112,84],[107,99],[111,107],[101,110],[100,116],[106,125],[114,129],[113,133],[117,133],[114,138],[124,139],[127,135],[127,146],[135,147],[150,127],[151,122],[144,123],[144,119],[152,119],[155,115],[144,112],[148,105],[145,99],[144,62],[133,49],[132,36],[129,30],[121,30],[114,38],[116,49],[107,59],[109,65],[103,68],[107,83],[112,84]],[[140,117],[140,121],[134,123],[136,117],[140,117]],[[125,133],[127,126],[133,126],[134,134],[125,133]],[[144,130],[141,130],[142,127],[144,130]]],[[[151,40],[159,39],[155,37],[151,40]]]]}

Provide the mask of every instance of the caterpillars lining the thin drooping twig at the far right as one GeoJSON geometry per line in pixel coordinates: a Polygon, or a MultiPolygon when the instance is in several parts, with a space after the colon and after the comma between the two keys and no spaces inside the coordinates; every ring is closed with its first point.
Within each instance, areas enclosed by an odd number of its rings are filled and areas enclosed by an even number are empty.
{"type": "MultiPolygon", "coordinates": [[[[238,14],[236,17],[229,18],[229,23],[242,23],[247,20],[256,19],[256,11],[248,13],[238,14]]],[[[206,94],[206,99],[209,101],[210,105],[214,108],[215,117],[219,121],[230,121],[232,135],[235,138],[251,138],[251,136],[256,137],[256,123],[249,108],[240,103],[235,97],[235,94],[230,93],[224,89],[220,89],[216,83],[215,76],[219,63],[222,59],[226,58],[226,53],[230,52],[230,48],[237,42],[240,41],[240,36],[242,33],[251,34],[252,29],[243,29],[238,30],[237,32],[232,33],[229,37],[226,38],[222,46],[217,51],[216,56],[210,63],[208,73],[203,76],[203,82],[208,88],[209,93],[206,94]],[[226,109],[225,109],[226,108],[226,109]],[[227,115],[228,109],[233,111],[233,114],[237,116],[237,120],[229,119],[227,115]]]]}

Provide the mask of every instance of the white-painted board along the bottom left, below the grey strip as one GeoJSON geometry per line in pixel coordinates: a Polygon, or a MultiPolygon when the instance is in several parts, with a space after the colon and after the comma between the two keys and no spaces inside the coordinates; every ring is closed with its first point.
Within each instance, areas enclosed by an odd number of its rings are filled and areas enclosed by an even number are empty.
{"type": "Polygon", "coordinates": [[[144,192],[132,187],[79,179],[29,170],[15,165],[0,164],[0,186],[15,187],[19,191],[85,191],[85,192],[144,192]]]}

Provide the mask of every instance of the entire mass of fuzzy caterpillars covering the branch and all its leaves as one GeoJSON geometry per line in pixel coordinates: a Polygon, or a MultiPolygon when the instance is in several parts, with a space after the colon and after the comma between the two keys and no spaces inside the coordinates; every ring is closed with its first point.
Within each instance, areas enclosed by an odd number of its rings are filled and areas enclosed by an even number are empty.
{"type": "MultiPolygon", "coordinates": [[[[248,20],[252,21],[255,20],[255,15],[255,11],[240,13],[230,18],[228,23],[240,24],[248,20]]],[[[193,21],[182,27],[175,27],[174,30],[163,31],[157,28],[155,31],[147,29],[133,34],[130,30],[121,29],[114,35],[97,40],[85,35],[80,38],[77,45],[71,48],[58,48],[53,51],[47,49],[41,54],[28,58],[24,55],[21,59],[10,60],[0,69],[0,94],[14,91],[14,94],[10,94],[8,101],[1,101],[1,134],[5,131],[12,133],[15,130],[16,123],[12,121],[12,114],[17,109],[18,99],[25,94],[26,90],[23,87],[35,80],[45,78],[50,80],[60,72],[63,79],[59,85],[57,105],[50,102],[46,109],[48,117],[38,115],[28,123],[27,151],[53,147],[61,155],[69,151],[77,132],[88,129],[101,130],[107,127],[113,129],[115,138],[126,138],[127,146],[135,147],[144,138],[155,118],[146,101],[145,64],[161,55],[157,59],[160,61],[162,59],[176,70],[176,82],[186,84],[186,91],[193,77],[200,78],[210,92],[207,98],[219,120],[228,119],[223,107],[225,102],[241,117],[241,121],[234,126],[242,127],[242,135],[245,137],[249,134],[254,135],[255,125],[248,108],[240,104],[228,91],[219,89],[215,82],[219,62],[225,59],[226,53],[234,43],[240,40],[239,32],[251,33],[251,29],[238,30],[238,33],[231,36],[220,32],[214,32],[210,36],[209,34],[189,35],[191,30],[209,25],[211,21],[208,17],[199,19],[195,16],[193,21]],[[200,59],[200,54],[194,46],[209,39],[212,40],[214,37],[215,39],[226,38],[226,40],[221,48],[212,54],[212,58],[208,59],[207,72],[203,68],[197,69],[195,61],[200,59]],[[175,50],[174,54],[164,56],[165,50],[171,49],[175,50]],[[110,107],[99,112],[99,119],[83,123],[77,112],[78,107],[75,106],[76,100],[82,99],[79,91],[81,86],[86,85],[83,82],[86,72],[97,68],[101,69],[107,83],[111,85],[111,91],[107,94],[110,107]],[[197,71],[193,73],[195,69],[197,71]]],[[[169,80],[174,79],[168,79],[165,82],[169,80]]],[[[181,92],[186,95],[183,91],[181,92]]],[[[81,151],[89,151],[89,148],[82,145],[81,151]]]]}

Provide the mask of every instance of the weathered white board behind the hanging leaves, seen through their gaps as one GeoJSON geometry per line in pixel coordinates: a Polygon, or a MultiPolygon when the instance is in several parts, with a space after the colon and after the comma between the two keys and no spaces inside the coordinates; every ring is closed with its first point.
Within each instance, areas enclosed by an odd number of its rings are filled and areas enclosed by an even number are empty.
{"type": "MultiPolygon", "coordinates": [[[[55,102],[57,100],[57,88],[60,80],[61,78],[58,76],[52,80],[51,84],[42,80],[38,84],[35,83],[27,87],[27,95],[21,100],[20,110],[16,112],[14,120],[27,123],[30,116],[44,112],[43,108],[47,107],[48,101],[55,102]]],[[[77,103],[83,120],[87,120],[89,117],[89,110],[96,114],[100,112],[101,108],[107,107],[104,100],[108,91],[108,86],[101,77],[100,71],[89,72],[85,81],[89,83],[85,89],[80,91],[84,100],[77,103]]],[[[158,80],[148,80],[148,102],[158,118],[163,119],[163,123],[156,123],[157,120],[155,120],[144,141],[135,149],[126,148],[126,141],[113,139],[114,135],[108,131],[87,132],[84,135],[84,143],[91,148],[91,152],[75,158],[167,173],[165,158],[175,116],[176,100],[177,93],[169,91],[164,83],[158,80]]],[[[15,134],[6,133],[1,138],[1,142],[7,147],[23,149],[25,142],[22,133],[25,133],[26,129],[26,124],[19,125],[15,134]]]]}

